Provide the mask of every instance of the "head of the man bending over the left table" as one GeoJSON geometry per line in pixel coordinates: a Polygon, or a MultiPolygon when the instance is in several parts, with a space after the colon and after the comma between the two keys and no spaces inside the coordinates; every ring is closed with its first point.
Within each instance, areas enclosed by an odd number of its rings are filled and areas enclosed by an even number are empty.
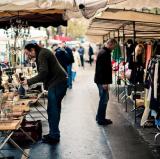
{"type": "Polygon", "coordinates": [[[31,60],[36,58],[36,54],[39,52],[40,47],[37,44],[27,44],[24,48],[25,55],[31,60]]]}

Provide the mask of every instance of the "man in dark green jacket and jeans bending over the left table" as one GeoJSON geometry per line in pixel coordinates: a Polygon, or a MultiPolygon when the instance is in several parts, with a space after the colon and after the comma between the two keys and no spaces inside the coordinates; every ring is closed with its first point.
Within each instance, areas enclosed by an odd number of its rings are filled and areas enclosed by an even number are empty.
{"type": "Polygon", "coordinates": [[[50,50],[41,48],[37,44],[27,44],[25,54],[29,59],[36,58],[38,75],[24,80],[23,84],[32,85],[43,82],[45,89],[48,90],[49,134],[43,136],[43,142],[58,143],[61,101],[67,90],[67,73],[50,50]]]}

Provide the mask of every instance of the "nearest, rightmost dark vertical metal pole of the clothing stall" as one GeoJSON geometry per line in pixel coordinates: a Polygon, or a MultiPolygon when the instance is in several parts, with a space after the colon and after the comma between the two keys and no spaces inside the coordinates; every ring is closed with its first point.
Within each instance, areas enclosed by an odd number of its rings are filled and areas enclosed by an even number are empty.
{"type": "MultiPolygon", "coordinates": [[[[133,43],[134,43],[134,46],[136,44],[136,26],[135,26],[135,22],[133,22],[133,43]]],[[[135,49],[134,49],[134,68],[133,68],[133,71],[134,71],[134,109],[135,109],[135,123],[137,123],[137,107],[136,107],[136,65],[135,65],[135,59],[136,59],[136,54],[135,54],[135,49]]]]}

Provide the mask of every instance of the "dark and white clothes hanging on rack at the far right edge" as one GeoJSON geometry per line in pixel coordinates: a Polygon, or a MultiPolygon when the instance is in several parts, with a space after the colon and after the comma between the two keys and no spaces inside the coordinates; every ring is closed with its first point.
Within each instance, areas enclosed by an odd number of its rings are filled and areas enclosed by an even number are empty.
{"type": "Polygon", "coordinates": [[[160,136],[160,55],[154,55],[147,67],[147,74],[145,79],[146,88],[148,89],[147,100],[149,100],[148,107],[151,111],[151,116],[155,118],[155,125],[159,132],[155,135],[155,141],[160,136]]]}

